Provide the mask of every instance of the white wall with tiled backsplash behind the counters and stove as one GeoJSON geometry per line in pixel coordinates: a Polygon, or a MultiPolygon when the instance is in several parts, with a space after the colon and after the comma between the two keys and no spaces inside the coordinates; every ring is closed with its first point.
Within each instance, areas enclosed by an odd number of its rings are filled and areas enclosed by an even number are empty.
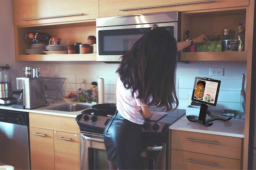
{"type": "MultiPolygon", "coordinates": [[[[22,67],[31,65],[36,68],[42,66],[58,66],[58,72],[42,72],[45,77],[67,78],[61,91],[65,94],[76,93],[80,88],[82,79],[86,80],[87,88],[90,83],[98,78],[105,79],[105,102],[116,102],[115,73],[118,64],[106,64],[102,62],[15,62],[14,53],[14,29],[12,1],[0,0],[0,65],[7,63],[12,67],[15,77],[20,77],[22,67]]],[[[25,42],[24,42],[25,43],[25,42]]],[[[49,69],[50,70],[50,69],[49,69]]],[[[222,110],[240,109],[241,74],[246,74],[246,62],[232,61],[201,61],[189,62],[189,64],[178,63],[177,65],[177,92],[180,101],[179,108],[189,105],[195,77],[210,77],[221,80],[220,94],[217,107],[210,109],[222,110]],[[224,68],[224,76],[209,76],[209,68],[224,68]]],[[[58,96],[61,98],[61,95],[58,96]]]]}

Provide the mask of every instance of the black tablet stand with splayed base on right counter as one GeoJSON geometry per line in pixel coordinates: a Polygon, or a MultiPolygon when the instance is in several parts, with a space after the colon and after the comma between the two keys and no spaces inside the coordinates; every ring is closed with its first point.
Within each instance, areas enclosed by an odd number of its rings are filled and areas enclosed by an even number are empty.
{"type": "Polygon", "coordinates": [[[201,108],[200,108],[200,113],[199,113],[199,117],[198,119],[194,119],[192,116],[186,116],[187,119],[189,119],[190,122],[196,122],[200,125],[204,125],[204,126],[211,126],[212,125],[212,122],[213,120],[224,120],[224,121],[228,121],[230,120],[232,117],[229,117],[229,118],[224,118],[224,117],[221,117],[221,116],[217,116],[217,115],[213,115],[210,111],[207,111],[208,109],[208,105],[205,105],[205,104],[201,104],[201,108]],[[205,119],[206,118],[206,113],[211,116],[212,118],[210,119],[205,119]],[[211,123],[208,123],[208,122],[211,122],[211,123]]]}

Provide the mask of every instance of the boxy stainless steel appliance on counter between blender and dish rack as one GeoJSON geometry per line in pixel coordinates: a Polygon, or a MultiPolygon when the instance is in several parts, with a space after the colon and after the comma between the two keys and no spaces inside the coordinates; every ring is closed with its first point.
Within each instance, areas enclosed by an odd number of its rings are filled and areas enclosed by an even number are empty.
{"type": "Polygon", "coordinates": [[[44,106],[44,78],[43,77],[18,77],[17,89],[22,90],[20,99],[23,98],[23,108],[33,109],[44,106]]]}

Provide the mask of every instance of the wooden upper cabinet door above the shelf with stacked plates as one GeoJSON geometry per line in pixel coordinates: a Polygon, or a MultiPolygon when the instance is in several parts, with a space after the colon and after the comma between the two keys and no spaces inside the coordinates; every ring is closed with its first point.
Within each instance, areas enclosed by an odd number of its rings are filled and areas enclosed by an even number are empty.
{"type": "Polygon", "coordinates": [[[98,0],[13,0],[15,26],[92,20],[98,0]]]}

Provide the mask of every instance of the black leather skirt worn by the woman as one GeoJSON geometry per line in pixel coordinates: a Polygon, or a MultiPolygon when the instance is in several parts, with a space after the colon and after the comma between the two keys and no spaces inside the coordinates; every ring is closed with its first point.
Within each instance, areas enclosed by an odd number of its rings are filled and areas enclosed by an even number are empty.
{"type": "Polygon", "coordinates": [[[108,161],[120,170],[139,169],[140,142],[143,125],[124,119],[118,111],[104,130],[108,161]]]}

